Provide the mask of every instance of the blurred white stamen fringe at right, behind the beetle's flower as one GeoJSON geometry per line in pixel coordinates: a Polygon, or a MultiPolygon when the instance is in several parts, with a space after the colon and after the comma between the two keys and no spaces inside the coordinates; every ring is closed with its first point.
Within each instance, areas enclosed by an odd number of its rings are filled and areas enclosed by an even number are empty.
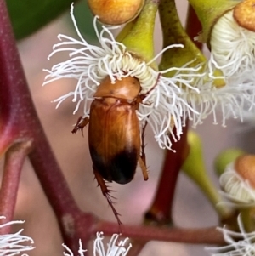
{"type": "Polygon", "coordinates": [[[225,127],[227,119],[239,118],[242,122],[246,112],[254,110],[255,86],[251,80],[243,82],[241,78],[225,77],[225,85],[218,88],[207,72],[205,76],[196,78],[194,86],[199,89],[199,94],[189,88],[182,94],[191,106],[184,112],[194,128],[211,114],[214,124],[220,122],[225,127]],[[196,112],[200,114],[196,115],[196,112]]]}

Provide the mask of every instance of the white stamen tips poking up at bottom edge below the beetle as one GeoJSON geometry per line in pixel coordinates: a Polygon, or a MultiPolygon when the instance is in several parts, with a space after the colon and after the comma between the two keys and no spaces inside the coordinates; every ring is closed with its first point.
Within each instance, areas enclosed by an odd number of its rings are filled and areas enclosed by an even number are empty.
{"type": "MultiPolygon", "coordinates": [[[[110,242],[107,244],[107,250],[105,250],[104,246],[104,235],[103,232],[97,233],[97,238],[94,241],[94,256],[126,256],[129,249],[132,247],[131,243],[129,243],[128,247],[125,247],[125,244],[128,238],[123,241],[119,240],[119,235],[114,234],[111,236],[110,242]]],[[[74,256],[71,252],[71,249],[63,244],[67,253],[64,253],[65,256],[74,256]]],[[[87,250],[82,249],[82,242],[79,241],[79,255],[84,256],[84,252],[87,250]]]]}

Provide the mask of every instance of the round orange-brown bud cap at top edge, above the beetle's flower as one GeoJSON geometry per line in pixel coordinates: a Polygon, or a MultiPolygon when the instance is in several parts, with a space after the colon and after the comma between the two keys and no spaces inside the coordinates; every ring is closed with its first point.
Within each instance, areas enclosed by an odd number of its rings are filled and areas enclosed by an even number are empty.
{"type": "Polygon", "coordinates": [[[88,5],[102,23],[120,25],[138,16],[144,0],[88,0],[88,5]]]}

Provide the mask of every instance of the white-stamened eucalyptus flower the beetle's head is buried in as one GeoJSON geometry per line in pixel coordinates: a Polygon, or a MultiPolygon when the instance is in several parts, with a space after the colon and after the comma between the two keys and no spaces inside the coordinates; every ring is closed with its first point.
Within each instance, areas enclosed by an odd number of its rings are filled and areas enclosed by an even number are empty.
{"type": "Polygon", "coordinates": [[[83,117],[89,117],[94,93],[105,77],[109,76],[113,84],[123,77],[136,77],[141,86],[139,94],[144,95],[137,111],[140,125],[144,127],[145,122],[148,122],[158,145],[161,148],[171,149],[172,141],[179,139],[182,134],[185,111],[189,110],[199,115],[182,95],[183,88],[190,88],[195,94],[199,93],[199,89],[194,88],[191,84],[195,77],[201,76],[197,72],[201,67],[172,67],[156,71],[151,65],[160,54],[168,48],[181,48],[183,45],[173,44],[164,48],[155,58],[146,62],[141,60],[138,54],[128,51],[123,43],[115,40],[111,31],[118,26],[102,26],[102,31],[99,32],[96,16],[94,30],[100,43],[100,46],[96,46],[89,44],[78,30],[73,15],[73,5],[71,6],[71,19],[79,39],[59,35],[59,40],[62,42],[54,45],[53,53],[48,58],[59,52],[65,52],[69,54],[70,59],[54,65],[51,71],[46,70],[48,76],[46,76],[44,84],[65,77],[77,79],[77,86],[70,93],[54,100],[58,103],[56,107],[59,107],[63,100],[71,97],[72,101],[77,104],[74,113],[78,111],[81,104],[84,104],[83,117]],[[169,71],[177,71],[177,73],[173,77],[164,77],[164,74],[169,71]],[[176,128],[176,134],[173,134],[173,127],[176,128]],[[173,138],[172,141],[170,137],[173,138]]]}

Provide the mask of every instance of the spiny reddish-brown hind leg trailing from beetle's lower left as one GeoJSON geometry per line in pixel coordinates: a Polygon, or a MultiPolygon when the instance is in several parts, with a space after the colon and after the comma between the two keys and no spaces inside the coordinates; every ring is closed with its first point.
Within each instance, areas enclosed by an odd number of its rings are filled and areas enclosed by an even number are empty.
{"type": "Polygon", "coordinates": [[[122,221],[119,218],[120,214],[117,213],[116,208],[114,208],[114,206],[113,206],[114,202],[112,201],[112,199],[114,199],[115,197],[110,195],[110,193],[112,191],[109,190],[108,186],[105,184],[105,180],[102,178],[102,176],[99,174],[99,172],[96,171],[95,169],[94,169],[94,176],[95,176],[95,179],[97,179],[97,181],[98,181],[98,184],[101,188],[101,191],[102,191],[103,195],[105,196],[107,202],[111,206],[111,210],[112,210],[112,212],[114,213],[114,215],[116,217],[118,225],[122,225],[122,221]]]}

